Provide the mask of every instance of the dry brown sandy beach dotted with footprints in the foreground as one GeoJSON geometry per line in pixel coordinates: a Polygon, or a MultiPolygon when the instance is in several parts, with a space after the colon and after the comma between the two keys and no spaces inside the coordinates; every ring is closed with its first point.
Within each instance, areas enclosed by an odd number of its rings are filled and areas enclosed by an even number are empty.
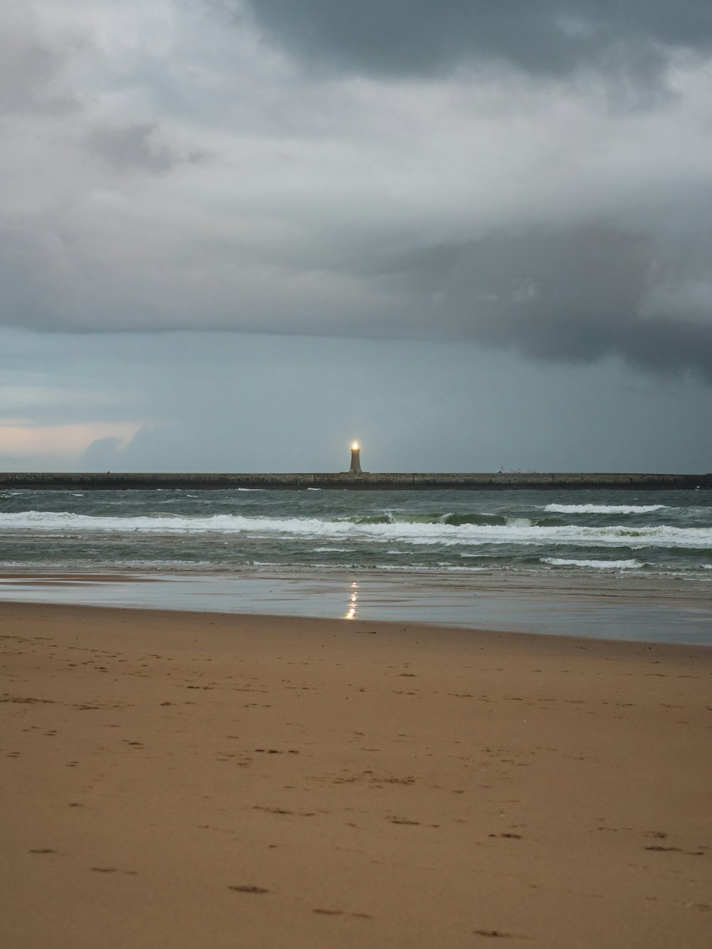
{"type": "Polygon", "coordinates": [[[703,949],[712,648],[0,604],[0,942],[703,949]]]}

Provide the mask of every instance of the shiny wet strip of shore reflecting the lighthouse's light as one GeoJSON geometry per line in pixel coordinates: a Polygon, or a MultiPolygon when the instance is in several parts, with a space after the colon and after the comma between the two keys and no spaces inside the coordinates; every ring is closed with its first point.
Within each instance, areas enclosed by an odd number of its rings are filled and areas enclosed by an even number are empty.
{"type": "Polygon", "coordinates": [[[620,575],[6,574],[0,599],[469,626],[712,644],[712,588],[620,575]]]}

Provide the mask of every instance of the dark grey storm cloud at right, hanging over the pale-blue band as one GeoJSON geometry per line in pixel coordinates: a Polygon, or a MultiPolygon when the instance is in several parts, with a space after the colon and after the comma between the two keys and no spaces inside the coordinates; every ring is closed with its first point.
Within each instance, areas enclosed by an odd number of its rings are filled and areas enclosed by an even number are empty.
{"type": "Polygon", "coordinates": [[[695,369],[712,382],[712,268],[695,271],[683,250],[592,224],[419,251],[401,276],[439,300],[448,335],[553,362],[695,369]],[[700,299],[690,302],[690,285],[700,299]]]}

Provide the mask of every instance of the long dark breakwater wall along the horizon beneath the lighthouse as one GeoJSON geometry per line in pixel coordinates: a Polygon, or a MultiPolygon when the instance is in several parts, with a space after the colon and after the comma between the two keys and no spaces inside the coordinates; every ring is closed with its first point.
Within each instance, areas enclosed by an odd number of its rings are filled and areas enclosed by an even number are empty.
{"type": "Polygon", "coordinates": [[[132,474],[0,472],[0,490],[37,491],[694,491],[712,489],[712,474],[132,474]]]}

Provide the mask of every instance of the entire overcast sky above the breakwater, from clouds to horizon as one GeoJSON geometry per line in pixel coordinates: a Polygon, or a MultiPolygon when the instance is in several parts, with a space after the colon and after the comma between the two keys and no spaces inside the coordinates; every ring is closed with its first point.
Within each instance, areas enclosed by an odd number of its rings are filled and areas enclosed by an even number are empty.
{"type": "Polygon", "coordinates": [[[0,0],[0,468],[712,469],[709,0],[0,0]]]}

